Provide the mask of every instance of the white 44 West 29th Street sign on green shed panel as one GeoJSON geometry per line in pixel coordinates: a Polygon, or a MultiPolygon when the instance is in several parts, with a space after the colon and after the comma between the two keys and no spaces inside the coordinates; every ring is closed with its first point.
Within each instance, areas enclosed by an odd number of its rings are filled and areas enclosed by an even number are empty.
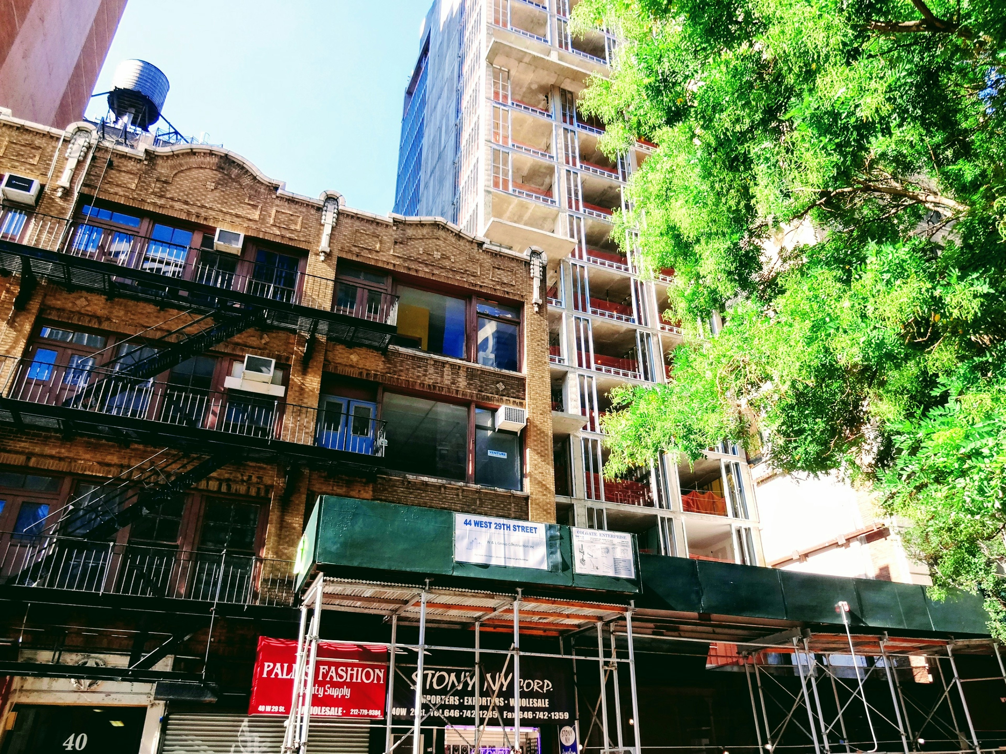
{"type": "Polygon", "coordinates": [[[454,559],[479,563],[548,570],[548,537],[545,525],[488,516],[454,515],[454,559]]]}

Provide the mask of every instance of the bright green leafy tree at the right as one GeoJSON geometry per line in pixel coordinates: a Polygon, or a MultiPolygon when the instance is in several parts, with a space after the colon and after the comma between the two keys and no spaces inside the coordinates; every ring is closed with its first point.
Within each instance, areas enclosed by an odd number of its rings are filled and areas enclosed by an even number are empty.
{"type": "Polygon", "coordinates": [[[875,485],[1006,635],[1006,1],[581,0],[595,26],[581,109],[659,145],[616,235],[686,325],[668,385],[613,396],[608,472],[760,434],[875,485]]]}

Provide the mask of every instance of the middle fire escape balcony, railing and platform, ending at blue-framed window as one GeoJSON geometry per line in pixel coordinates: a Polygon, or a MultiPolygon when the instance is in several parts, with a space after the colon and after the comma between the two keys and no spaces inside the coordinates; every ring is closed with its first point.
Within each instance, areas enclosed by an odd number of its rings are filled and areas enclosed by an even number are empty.
{"type": "Polygon", "coordinates": [[[116,370],[0,360],[0,421],[242,457],[382,465],[384,422],[240,391],[202,390],[116,370]]]}

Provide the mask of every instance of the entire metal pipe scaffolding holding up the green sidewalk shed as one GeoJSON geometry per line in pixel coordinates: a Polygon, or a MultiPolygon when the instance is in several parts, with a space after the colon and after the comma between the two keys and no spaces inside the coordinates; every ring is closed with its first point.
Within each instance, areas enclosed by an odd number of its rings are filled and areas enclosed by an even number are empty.
{"type": "MultiPolygon", "coordinates": [[[[794,628],[763,638],[732,640],[735,654],[730,665],[743,670],[750,701],[751,719],[759,750],[772,754],[784,750],[800,752],[813,751],[814,754],[981,754],[983,747],[972,721],[971,711],[964,694],[964,684],[970,681],[1001,680],[1006,682],[1006,668],[1003,665],[999,646],[990,639],[969,639],[954,641],[940,638],[893,638],[886,633],[870,635],[854,633],[848,620],[848,606],[836,605],[842,615],[844,632],[812,633],[806,629],[794,628]],[[958,650],[995,654],[1000,676],[995,679],[962,678],[958,672],[958,650]],[[775,664],[769,657],[776,655],[775,664]],[[789,655],[792,665],[780,661],[789,655]],[[835,666],[825,656],[840,655],[851,657],[849,668],[835,666]],[[906,669],[908,657],[925,658],[921,666],[911,670],[932,668],[933,683],[937,694],[919,702],[902,688],[895,672],[906,669]],[[866,657],[872,657],[867,664],[866,657]],[[898,663],[898,659],[901,662],[898,663]],[[780,664],[782,663],[782,664],[780,664]],[[944,667],[948,674],[945,674],[944,667]],[[795,667],[794,667],[795,666],[795,667]],[[844,671],[839,672],[838,669],[844,671]],[[799,679],[799,689],[790,689],[777,676],[780,674],[799,679]],[[886,679],[889,700],[875,698],[867,693],[867,681],[886,679]],[[829,688],[830,687],[830,688],[829,688]],[[953,694],[956,691],[956,694],[953,694]],[[952,696],[956,700],[952,700],[952,696]],[[830,699],[829,699],[830,698],[830,699]],[[782,701],[781,701],[782,699],[782,701]],[[934,703],[935,699],[935,703],[934,703]],[[822,700],[827,700],[823,702],[822,700]],[[834,706],[831,707],[832,702],[834,706]],[[886,705],[890,705],[889,708],[886,705]],[[773,722],[770,711],[781,711],[782,718],[773,722]],[[830,710],[830,711],[829,711],[830,710]],[[958,714],[963,711],[963,715],[958,714]],[[806,720],[802,721],[804,713],[806,720]],[[850,740],[850,713],[859,716],[858,723],[866,721],[869,736],[864,740],[850,740]],[[966,729],[960,725],[966,722],[966,729]],[[892,731],[893,739],[885,740],[879,735],[877,726],[883,732],[892,731]],[[787,734],[790,734],[789,737],[787,734]],[[925,749],[926,736],[931,736],[930,746],[925,749]],[[950,745],[934,748],[934,745],[948,741],[950,745]]],[[[576,739],[581,751],[597,749],[599,754],[644,754],[643,749],[672,750],[674,747],[646,746],[641,741],[641,720],[636,675],[636,639],[647,636],[649,621],[660,621],[653,611],[639,611],[634,603],[611,604],[563,600],[551,597],[528,596],[521,589],[513,593],[499,593],[474,589],[434,587],[428,581],[426,586],[388,584],[382,582],[354,581],[319,576],[307,589],[301,607],[300,629],[298,632],[295,683],[290,716],[286,722],[284,754],[307,754],[310,729],[310,710],[314,689],[306,683],[314,678],[318,657],[318,641],[321,614],[324,610],[363,612],[384,616],[390,624],[390,641],[367,641],[374,646],[385,646],[389,650],[388,683],[385,699],[384,752],[393,754],[411,736],[411,754],[423,754],[422,728],[428,720],[436,721],[435,727],[453,730],[474,752],[480,750],[487,726],[502,730],[505,746],[512,754],[521,751],[521,659],[522,657],[553,657],[570,661],[572,664],[573,694],[576,699],[576,713],[570,725],[576,731],[576,739]],[[642,616],[644,632],[634,627],[634,616],[642,616]],[[402,621],[417,628],[415,643],[398,640],[398,628],[402,621]],[[474,646],[442,646],[428,643],[428,627],[469,628],[474,630],[474,646]],[[616,629],[618,626],[618,630],[616,629]],[[624,626],[624,630],[622,629],[624,626]],[[497,633],[511,631],[509,648],[486,648],[481,641],[482,632],[491,629],[497,633]],[[597,633],[597,655],[577,653],[582,644],[569,641],[577,635],[597,633]],[[606,637],[607,632],[607,637],[606,637]],[[520,637],[527,635],[552,635],[559,638],[559,652],[548,653],[526,651],[521,648],[520,637]],[[619,639],[619,644],[616,642],[619,639]],[[607,638],[607,640],[606,640],[607,638]],[[628,656],[619,656],[625,647],[628,656]],[[424,663],[431,650],[450,652],[470,652],[474,658],[475,720],[472,726],[458,726],[441,711],[440,704],[431,704],[429,698],[424,710],[424,663]],[[397,664],[397,654],[415,652],[416,675],[414,682],[402,672],[397,664]],[[486,675],[483,665],[487,654],[502,654],[503,674],[513,671],[514,718],[505,721],[500,706],[497,705],[499,684],[493,686],[488,709],[482,694],[490,686],[482,686],[486,675]],[[600,694],[596,703],[580,707],[580,691],[577,687],[577,665],[584,662],[598,663],[600,694]],[[623,730],[622,692],[619,687],[619,670],[628,668],[631,700],[630,727],[633,729],[631,741],[626,741],[623,730]],[[414,709],[410,724],[393,721],[394,687],[404,682],[414,698],[414,709]],[[614,709],[610,706],[614,704],[614,709]],[[580,712],[585,709],[590,719],[586,735],[580,738],[580,712]],[[615,717],[612,726],[611,717],[615,717]],[[509,723],[509,724],[508,724],[509,723]],[[614,727],[614,730],[613,730],[614,727]],[[395,729],[401,735],[394,741],[395,729]],[[601,736],[601,746],[588,747],[595,729],[601,736]],[[508,735],[512,732],[513,738],[508,735]]],[[[655,623],[656,624],[656,623],[655,623]]],[[[659,634],[655,634],[659,635],[659,634]]],[[[717,643],[708,639],[686,636],[660,636],[671,642],[699,642],[706,645],[717,643]]],[[[592,639],[593,640],[593,639],[592,639]]],[[[625,676],[623,675],[623,682],[625,676]]],[[[400,716],[400,711],[399,711],[400,716]]],[[[584,719],[584,722],[585,719],[584,719]]],[[[726,751],[723,746],[713,747],[716,751],[726,751]]],[[[732,746],[730,748],[733,748],[732,746]]],[[[752,748],[749,745],[737,748],[752,748]]],[[[991,748],[991,747],[985,747],[991,748]]],[[[399,752],[400,754],[400,752],[399,752]]]]}

